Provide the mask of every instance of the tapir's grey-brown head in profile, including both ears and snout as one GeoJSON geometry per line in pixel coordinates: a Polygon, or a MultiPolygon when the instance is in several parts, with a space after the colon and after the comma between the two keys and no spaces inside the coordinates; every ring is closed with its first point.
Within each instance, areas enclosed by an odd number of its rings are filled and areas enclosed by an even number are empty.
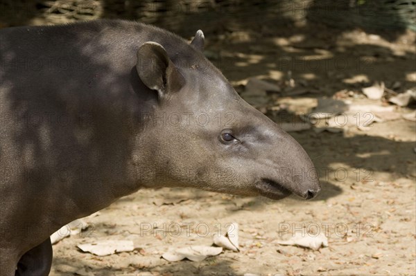
{"type": "Polygon", "coordinates": [[[185,56],[155,42],[137,51],[139,77],[157,93],[153,122],[141,134],[152,141],[141,151],[153,165],[147,186],[312,199],[320,183],[309,156],[236,93],[202,55],[203,45],[198,30],[185,56]]]}

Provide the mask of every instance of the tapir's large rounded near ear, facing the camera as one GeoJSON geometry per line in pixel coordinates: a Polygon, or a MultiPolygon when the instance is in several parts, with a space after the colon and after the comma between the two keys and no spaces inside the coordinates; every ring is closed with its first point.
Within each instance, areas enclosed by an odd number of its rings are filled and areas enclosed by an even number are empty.
{"type": "Polygon", "coordinates": [[[159,97],[177,92],[184,86],[184,77],[156,42],[146,42],[137,50],[137,73],[140,80],[150,89],[157,90],[159,97]]]}

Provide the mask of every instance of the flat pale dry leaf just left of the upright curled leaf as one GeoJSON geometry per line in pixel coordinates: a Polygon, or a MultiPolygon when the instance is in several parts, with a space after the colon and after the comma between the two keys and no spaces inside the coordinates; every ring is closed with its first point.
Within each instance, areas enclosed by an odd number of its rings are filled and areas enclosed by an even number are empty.
{"type": "Polygon", "coordinates": [[[223,248],[214,246],[189,246],[185,248],[177,248],[169,250],[162,255],[166,261],[182,261],[189,259],[191,261],[202,261],[209,256],[216,256],[223,252],[223,248]]]}

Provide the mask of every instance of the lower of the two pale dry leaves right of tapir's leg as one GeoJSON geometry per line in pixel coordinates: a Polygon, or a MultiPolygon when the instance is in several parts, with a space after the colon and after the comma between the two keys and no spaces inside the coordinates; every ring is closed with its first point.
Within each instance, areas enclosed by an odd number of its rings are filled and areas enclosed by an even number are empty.
{"type": "Polygon", "coordinates": [[[97,256],[107,256],[119,252],[130,252],[135,250],[133,241],[127,240],[108,240],[96,243],[78,244],[78,248],[84,252],[91,252],[97,256]]]}

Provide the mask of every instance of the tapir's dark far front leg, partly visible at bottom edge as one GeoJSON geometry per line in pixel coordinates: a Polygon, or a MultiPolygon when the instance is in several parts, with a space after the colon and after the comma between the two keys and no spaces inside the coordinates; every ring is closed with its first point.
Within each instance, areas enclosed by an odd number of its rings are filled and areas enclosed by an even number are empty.
{"type": "Polygon", "coordinates": [[[19,259],[15,276],[48,276],[52,265],[51,239],[46,239],[19,259]]]}

